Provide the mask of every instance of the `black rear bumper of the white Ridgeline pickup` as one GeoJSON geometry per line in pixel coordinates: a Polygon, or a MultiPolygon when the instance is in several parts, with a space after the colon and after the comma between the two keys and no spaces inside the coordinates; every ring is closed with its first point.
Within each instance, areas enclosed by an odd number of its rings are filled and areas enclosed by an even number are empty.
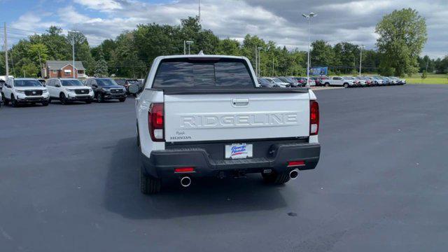
{"type": "Polygon", "coordinates": [[[256,173],[265,169],[273,172],[286,172],[292,169],[314,169],[321,153],[320,144],[273,144],[265,158],[241,160],[213,160],[204,148],[172,148],[165,151],[152,151],[148,158],[141,155],[144,173],[155,178],[173,177],[182,174],[174,169],[194,167],[189,176],[222,176],[232,173],[256,173]],[[303,160],[304,165],[288,167],[288,162],[303,160]]]}

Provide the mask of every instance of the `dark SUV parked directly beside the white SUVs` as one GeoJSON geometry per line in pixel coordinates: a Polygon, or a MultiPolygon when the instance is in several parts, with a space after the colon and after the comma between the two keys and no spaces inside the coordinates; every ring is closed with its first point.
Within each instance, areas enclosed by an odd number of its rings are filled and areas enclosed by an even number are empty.
{"type": "Polygon", "coordinates": [[[120,102],[126,100],[126,89],[118,85],[111,78],[89,78],[85,85],[92,87],[94,97],[98,102],[104,102],[109,99],[118,99],[120,102]]]}

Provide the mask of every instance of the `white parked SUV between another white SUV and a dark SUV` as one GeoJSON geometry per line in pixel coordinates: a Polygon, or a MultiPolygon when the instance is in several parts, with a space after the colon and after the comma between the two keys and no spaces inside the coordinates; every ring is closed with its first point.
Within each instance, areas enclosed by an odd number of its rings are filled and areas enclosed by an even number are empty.
{"type": "Polygon", "coordinates": [[[73,101],[83,101],[90,104],[93,99],[92,87],[86,87],[76,78],[51,78],[46,84],[50,92],[50,102],[59,100],[62,104],[73,101]]]}

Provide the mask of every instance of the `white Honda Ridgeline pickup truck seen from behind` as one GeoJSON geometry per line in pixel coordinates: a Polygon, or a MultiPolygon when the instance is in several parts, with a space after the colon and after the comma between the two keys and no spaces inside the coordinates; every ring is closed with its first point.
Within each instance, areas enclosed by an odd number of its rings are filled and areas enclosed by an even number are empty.
{"type": "Polygon", "coordinates": [[[157,57],[136,99],[140,188],[162,181],[262,174],[268,183],[314,169],[319,113],[308,88],[262,88],[246,57],[157,57]]]}

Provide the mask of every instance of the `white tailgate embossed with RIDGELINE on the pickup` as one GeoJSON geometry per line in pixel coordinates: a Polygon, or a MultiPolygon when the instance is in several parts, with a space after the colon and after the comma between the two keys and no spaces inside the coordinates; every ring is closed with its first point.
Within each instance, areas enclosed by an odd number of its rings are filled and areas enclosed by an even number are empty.
{"type": "Polygon", "coordinates": [[[168,93],[164,100],[167,142],[309,136],[308,92],[168,93]]]}

